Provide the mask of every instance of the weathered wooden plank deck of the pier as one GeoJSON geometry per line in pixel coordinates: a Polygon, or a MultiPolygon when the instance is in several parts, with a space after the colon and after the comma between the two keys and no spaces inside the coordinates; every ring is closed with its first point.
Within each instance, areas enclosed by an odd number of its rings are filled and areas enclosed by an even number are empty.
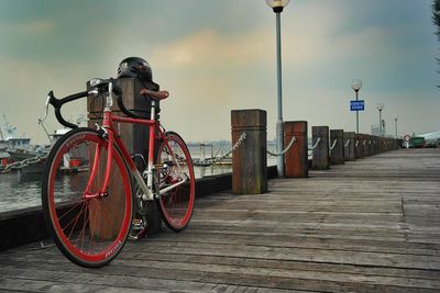
{"type": "Polygon", "coordinates": [[[7,250],[9,291],[440,292],[440,149],[271,180],[262,195],[199,199],[187,230],[129,243],[102,269],[38,243],[7,250]]]}

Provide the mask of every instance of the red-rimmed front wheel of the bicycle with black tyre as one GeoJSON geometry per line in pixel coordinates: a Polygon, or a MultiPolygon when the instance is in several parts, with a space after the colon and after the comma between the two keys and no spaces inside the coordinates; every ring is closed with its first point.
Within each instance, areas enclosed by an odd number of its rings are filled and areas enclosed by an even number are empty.
{"type": "Polygon", "coordinates": [[[118,148],[109,146],[99,132],[78,128],[56,142],[46,162],[42,205],[63,255],[82,267],[102,267],[114,259],[130,230],[131,192],[118,148]],[[101,191],[109,147],[113,147],[109,188],[102,196],[86,198],[101,191]],[[95,157],[99,158],[96,164],[95,157]]]}

